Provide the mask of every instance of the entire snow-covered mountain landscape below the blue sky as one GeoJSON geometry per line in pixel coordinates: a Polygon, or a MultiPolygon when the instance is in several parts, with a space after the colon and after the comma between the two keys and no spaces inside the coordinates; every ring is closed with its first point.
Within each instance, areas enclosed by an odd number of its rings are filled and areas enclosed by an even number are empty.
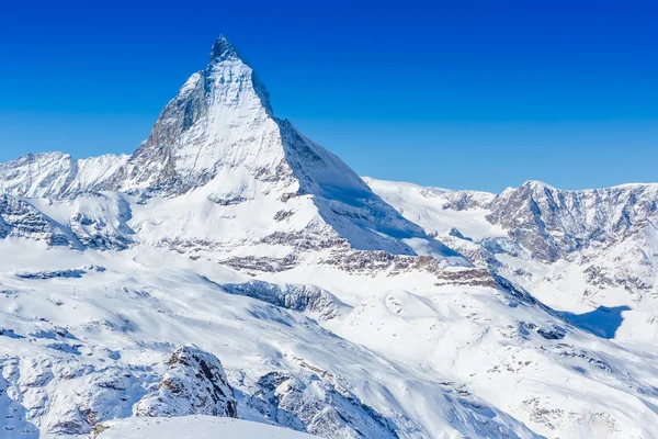
{"type": "Polygon", "coordinates": [[[3,438],[657,437],[657,185],[361,179],[219,37],[134,154],[0,188],[3,438]]]}

